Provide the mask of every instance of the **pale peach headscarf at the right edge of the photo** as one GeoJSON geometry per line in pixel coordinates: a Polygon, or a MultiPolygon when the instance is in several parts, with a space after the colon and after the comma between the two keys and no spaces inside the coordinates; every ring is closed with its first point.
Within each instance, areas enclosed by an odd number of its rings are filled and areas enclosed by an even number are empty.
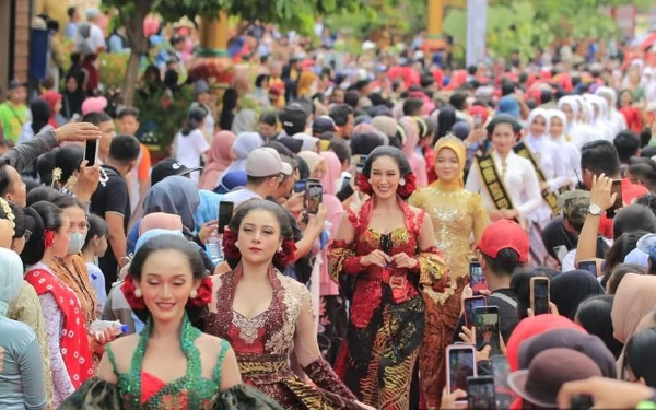
{"type": "Polygon", "coordinates": [[[656,277],[635,273],[624,276],[616,292],[610,312],[618,341],[625,344],[643,316],[656,308],[654,295],[656,295],[656,277]]]}

